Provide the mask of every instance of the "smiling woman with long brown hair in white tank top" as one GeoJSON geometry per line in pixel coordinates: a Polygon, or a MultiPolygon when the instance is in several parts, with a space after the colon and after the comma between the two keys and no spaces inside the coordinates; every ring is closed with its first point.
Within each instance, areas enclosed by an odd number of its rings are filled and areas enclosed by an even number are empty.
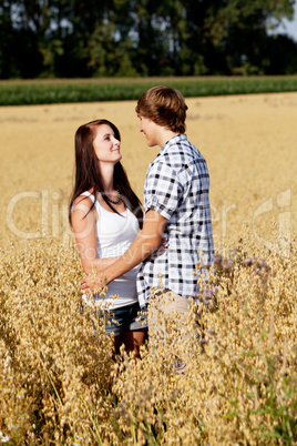
{"type": "MultiPolygon", "coordinates": [[[[141,202],[120,162],[120,141],[116,126],[104,119],[81,125],[75,133],[70,222],[85,274],[92,274],[94,266],[100,272],[115,262],[142,226],[141,202]]],[[[137,272],[139,266],[111,282],[105,296],[94,295],[105,317],[105,332],[114,333],[115,351],[124,343],[136,356],[147,333],[137,300],[137,272]]]]}

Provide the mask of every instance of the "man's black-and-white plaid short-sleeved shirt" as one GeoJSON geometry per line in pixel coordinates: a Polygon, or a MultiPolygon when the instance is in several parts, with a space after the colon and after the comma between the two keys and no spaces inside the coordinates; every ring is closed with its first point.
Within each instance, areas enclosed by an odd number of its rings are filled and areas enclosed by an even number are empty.
{"type": "Polygon", "coordinates": [[[167,141],[147,169],[144,212],[154,210],[167,220],[164,237],[168,247],[143,262],[137,276],[142,307],[148,304],[151,288],[160,290],[160,274],[164,288],[196,301],[198,277],[193,272],[198,263],[211,265],[214,261],[208,190],[206,162],[186,134],[167,141]]]}

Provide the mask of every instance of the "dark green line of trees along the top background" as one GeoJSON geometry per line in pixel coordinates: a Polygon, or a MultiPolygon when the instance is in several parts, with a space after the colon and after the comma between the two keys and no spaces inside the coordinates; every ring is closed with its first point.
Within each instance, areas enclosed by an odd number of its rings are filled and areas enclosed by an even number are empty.
{"type": "Polygon", "coordinates": [[[294,0],[0,0],[0,78],[297,73],[294,0]]]}

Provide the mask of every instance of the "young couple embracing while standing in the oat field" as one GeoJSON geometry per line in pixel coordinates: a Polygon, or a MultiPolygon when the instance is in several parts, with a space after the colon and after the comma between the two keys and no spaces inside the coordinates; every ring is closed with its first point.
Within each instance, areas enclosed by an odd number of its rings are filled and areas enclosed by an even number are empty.
{"type": "MultiPolygon", "coordinates": [[[[214,260],[208,170],[187,141],[186,110],[182,94],[168,87],[152,88],[137,101],[140,131],[148,146],[161,148],[146,174],[144,217],[121,164],[116,126],[98,120],[81,125],[75,134],[70,217],[85,272],[81,291],[96,293],[99,306],[110,305],[105,331],[114,333],[115,351],[124,343],[139,354],[147,333],[141,308],[154,297],[152,288],[158,291],[160,274],[161,311],[175,310],[184,317],[190,297],[195,301],[199,292],[193,275],[196,265],[201,263],[205,272],[203,265],[214,260]],[[96,291],[106,285],[102,297],[96,291]]],[[[148,323],[148,334],[151,328],[148,323]]]]}

